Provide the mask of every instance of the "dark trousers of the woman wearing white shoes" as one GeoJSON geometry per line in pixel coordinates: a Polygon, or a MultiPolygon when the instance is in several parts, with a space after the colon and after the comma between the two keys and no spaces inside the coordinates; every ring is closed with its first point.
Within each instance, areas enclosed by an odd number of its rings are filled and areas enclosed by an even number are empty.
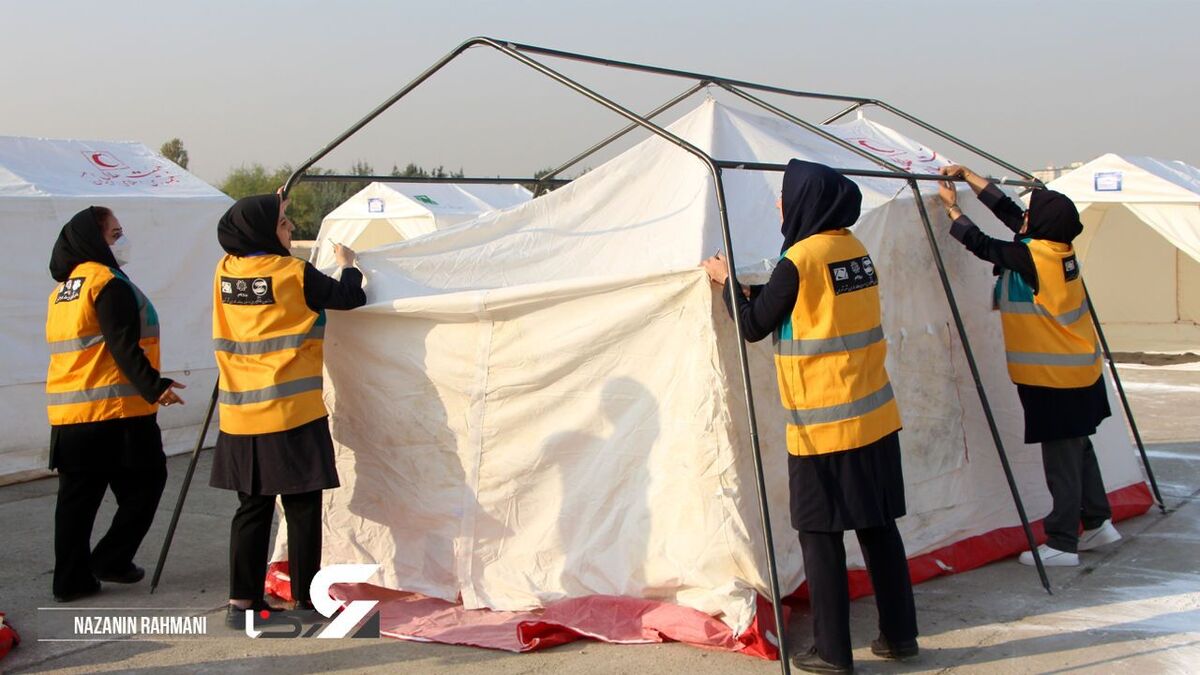
{"type": "Polygon", "coordinates": [[[1044,521],[1046,544],[1060,551],[1079,548],[1079,525],[1099,527],[1112,518],[1100,465],[1087,436],[1042,443],[1042,464],[1054,508],[1044,521]]]}

